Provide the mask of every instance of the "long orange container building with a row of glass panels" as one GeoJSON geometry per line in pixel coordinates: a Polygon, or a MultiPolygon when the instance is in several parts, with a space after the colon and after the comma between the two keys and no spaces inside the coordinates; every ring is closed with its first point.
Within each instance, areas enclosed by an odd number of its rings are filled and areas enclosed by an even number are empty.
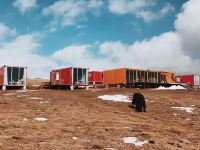
{"type": "Polygon", "coordinates": [[[103,72],[103,83],[105,85],[121,86],[159,86],[174,84],[175,78],[172,72],[156,70],[143,70],[132,68],[120,68],[106,70],[103,72]]]}

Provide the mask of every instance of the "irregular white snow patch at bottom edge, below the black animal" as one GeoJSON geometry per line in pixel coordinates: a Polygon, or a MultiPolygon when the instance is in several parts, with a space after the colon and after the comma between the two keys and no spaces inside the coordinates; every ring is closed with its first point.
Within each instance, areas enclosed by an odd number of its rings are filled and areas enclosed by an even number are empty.
{"type": "Polygon", "coordinates": [[[124,137],[122,140],[124,143],[134,144],[136,147],[142,147],[144,144],[148,143],[148,140],[140,141],[137,137],[124,137]]]}

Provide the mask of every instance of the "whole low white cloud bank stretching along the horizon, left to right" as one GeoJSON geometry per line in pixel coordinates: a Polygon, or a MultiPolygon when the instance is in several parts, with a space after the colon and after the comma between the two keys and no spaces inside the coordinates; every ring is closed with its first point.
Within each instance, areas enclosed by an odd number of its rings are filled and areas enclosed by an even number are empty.
{"type": "MultiPolygon", "coordinates": [[[[34,77],[47,77],[51,69],[58,67],[58,63],[63,66],[89,67],[95,70],[135,67],[178,73],[200,73],[200,59],[191,57],[199,55],[200,23],[198,19],[194,19],[200,14],[197,7],[199,5],[198,0],[184,4],[182,12],[175,20],[174,32],[166,32],[132,44],[120,41],[107,41],[95,46],[74,44],[59,49],[48,57],[38,52],[40,44],[37,39],[40,39],[40,34],[17,36],[11,42],[0,43],[0,64],[28,66],[29,75],[34,77]],[[97,52],[93,52],[94,50],[97,52]]],[[[57,13],[65,13],[66,10],[63,9],[57,10],[57,13]]],[[[165,12],[167,10],[163,10],[163,13],[165,12]]],[[[10,30],[12,29],[5,25],[0,26],[0,35],[5,36],[10,30]]]]}

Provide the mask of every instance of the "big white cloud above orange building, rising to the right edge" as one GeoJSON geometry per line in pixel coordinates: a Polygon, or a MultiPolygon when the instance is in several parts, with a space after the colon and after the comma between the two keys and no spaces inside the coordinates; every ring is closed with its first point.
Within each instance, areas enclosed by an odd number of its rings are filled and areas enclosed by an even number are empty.
{"type": "MultiPolygon", "coordinates": [[[[101,57],[97,58],[92,55],[91,45],[67,46],[55,52],[53,58],[64,64],[85,65],[92,69],[134,67],[200,74],[200,59],[194,59],[185,53],[188,46],[191,47],[190,53],[199,55],[200,52],[200,24],[198,19],[194,19],[200,14],[199,5],[200,1],[191,0],[183,6],[183,11],[175,20],[174,32],[166,32],[133,44],[120,41],[98,44],[97,55],[101,57]]],[[[167,9],[162,12],[165,14],[167,9]]]]}

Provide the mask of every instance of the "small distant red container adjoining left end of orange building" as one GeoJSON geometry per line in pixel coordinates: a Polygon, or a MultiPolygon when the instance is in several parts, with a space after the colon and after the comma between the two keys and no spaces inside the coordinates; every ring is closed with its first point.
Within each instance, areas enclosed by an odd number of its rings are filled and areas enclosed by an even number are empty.
{"type": "Polygon", "coordinates": [[[103,82],[103,73],[100,71],[91,71],[89,72],[89,83],[102,83],[103,82]]]}

